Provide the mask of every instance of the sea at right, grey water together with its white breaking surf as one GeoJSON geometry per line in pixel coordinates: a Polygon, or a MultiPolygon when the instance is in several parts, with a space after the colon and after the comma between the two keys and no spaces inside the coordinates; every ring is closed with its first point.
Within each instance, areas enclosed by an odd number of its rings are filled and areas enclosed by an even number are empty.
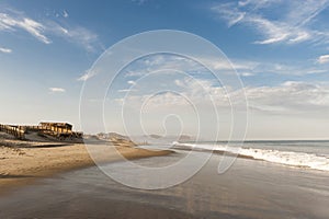
{"type": "Polygon", "coordinates": [[[254,160],[329,172],[329,141],[173,142],[177,149],[231,152],[254,160]]]}

